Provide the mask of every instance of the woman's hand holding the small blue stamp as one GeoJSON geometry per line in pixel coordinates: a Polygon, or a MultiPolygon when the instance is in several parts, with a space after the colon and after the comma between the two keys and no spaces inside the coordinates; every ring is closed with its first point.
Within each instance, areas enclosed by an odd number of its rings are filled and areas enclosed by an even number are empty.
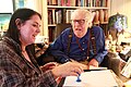
{"type": "Polygon", "coordinates": [[[55,77],[79,76],[83,72],[83,64],[78,62],[67,62],[51,70],[55,77]]]}

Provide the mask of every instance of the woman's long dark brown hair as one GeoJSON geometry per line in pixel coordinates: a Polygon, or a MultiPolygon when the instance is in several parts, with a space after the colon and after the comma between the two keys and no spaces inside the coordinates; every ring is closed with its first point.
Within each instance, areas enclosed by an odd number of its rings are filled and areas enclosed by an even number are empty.
{"type": "Polygon", "coordinates": [[[17,9],[12,14],[12,17],[11,17],[10,23],[9,23],[9,28],[8,28],[5,36],[12,38],[17,44],[21,45],[20,30],[17,29],[15,21],[16,21],[16,18],[20,18],[24,23],[25,21],[29,20],[33,15],[38,15],[41,20],[41,15],[34,10],[26,9],[26,8],[17,9]]]}

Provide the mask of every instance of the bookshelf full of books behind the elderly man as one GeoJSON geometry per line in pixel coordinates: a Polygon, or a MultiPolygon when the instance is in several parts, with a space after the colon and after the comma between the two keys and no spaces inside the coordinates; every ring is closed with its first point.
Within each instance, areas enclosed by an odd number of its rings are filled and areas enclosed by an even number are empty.
{"type": "Polygon", "coordinates": [[[47,34],[49,41],[53,41],[57,24],[71,23],[70,15],[79,8],[95,12],[94,25],[102,26],[107,35],[108,16],[110,14],[110,0],[45,0],[47,3],[47,34]]]}

